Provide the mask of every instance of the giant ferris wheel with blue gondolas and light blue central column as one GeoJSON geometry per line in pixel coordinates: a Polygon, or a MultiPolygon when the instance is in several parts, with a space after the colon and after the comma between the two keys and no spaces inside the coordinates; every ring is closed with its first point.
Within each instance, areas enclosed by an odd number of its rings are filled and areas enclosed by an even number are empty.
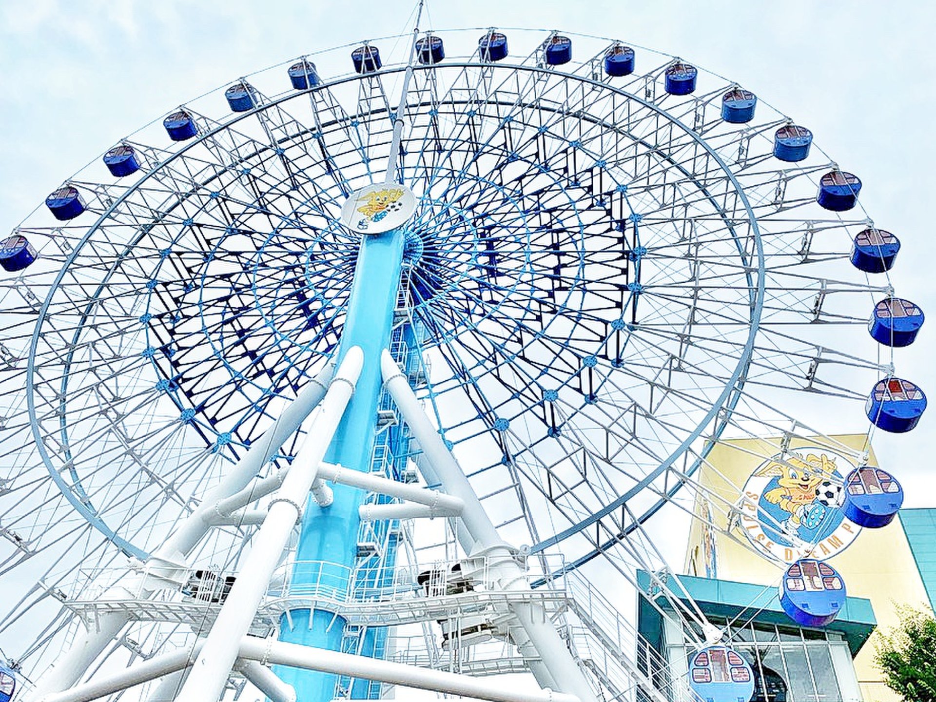
{"type": "MultiPolygon", "coordinates": [[[[102,160],[0,248],[23,699],[692,699],[628,613],[637,571],[675,570],[662,521],[739,511],[696,479],[711,451],[861,467],[926,406],[860,180],[680,58],[416,31],[234,80],[102,160]],[[558,692],[485,680],[517,672],[558,692]]],[[[892,516],[827,477],[807,554],[825,515],[892,516]]]]}

